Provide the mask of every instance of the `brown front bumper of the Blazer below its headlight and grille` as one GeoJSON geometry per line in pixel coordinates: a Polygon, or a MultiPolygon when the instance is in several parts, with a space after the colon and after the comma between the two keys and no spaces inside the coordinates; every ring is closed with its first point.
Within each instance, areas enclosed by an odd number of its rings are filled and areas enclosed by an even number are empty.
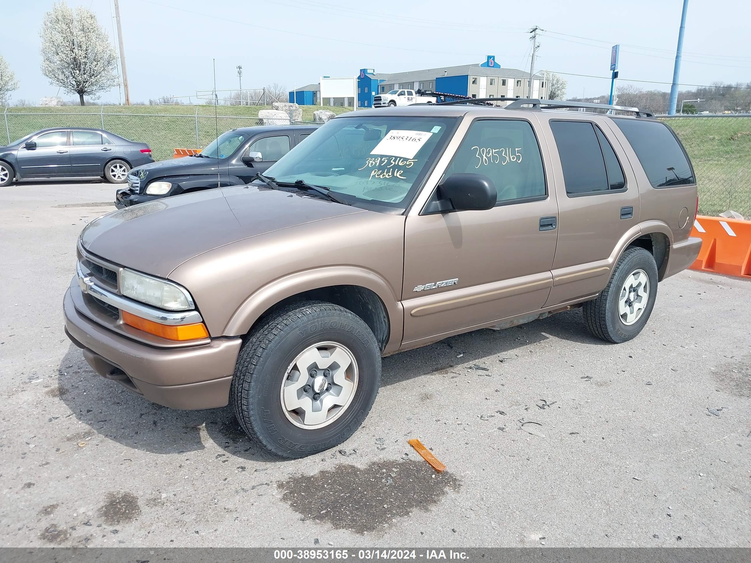
{"type": "Polygon", "coordinates": [[[228,404],[230,383],[242,339],[219,338],[182,348],[155,348],[134,342],[95,323],[74,303],[83,303],[77,285],[63,300],[65,334],[95,372],[149,401],[188,411],[228,404]]]}

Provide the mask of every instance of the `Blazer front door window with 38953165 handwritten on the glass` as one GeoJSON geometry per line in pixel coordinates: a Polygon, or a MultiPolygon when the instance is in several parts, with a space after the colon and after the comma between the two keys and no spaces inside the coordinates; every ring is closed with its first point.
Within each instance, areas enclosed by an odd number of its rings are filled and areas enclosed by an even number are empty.
{"type": "Polygon", "coordinates": [[[478,119],[457,149],[444,178],[484,174],[496,186],[499,203],[544,199],[545,176],[532,125],[520,119],[478,119]]]}

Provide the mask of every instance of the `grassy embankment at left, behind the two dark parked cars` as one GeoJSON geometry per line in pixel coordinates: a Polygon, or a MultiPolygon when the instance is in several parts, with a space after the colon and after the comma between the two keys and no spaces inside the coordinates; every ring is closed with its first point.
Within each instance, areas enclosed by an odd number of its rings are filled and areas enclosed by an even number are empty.
{"type": "MultiPolygon", "coordinates": [[[[216,138],[216,131],[258,125],[258,111],[272,110],[271,106],[219,106],[219,116],[214,119],[213,106],[62,106],[62,107],[9,107],[8,132],[11,141],[39,129],[49,127],[101,127],[126,139],[148,143],[154,158],[172,158],[173,149],[204,147],[216,138]],[[196,117],[198,113],[198,117],[196,117]],[[196,122],[198,121],[198,134],[196,122]]],[[[300,106],[303,121],[313,121],[315,110],[334,113],[349,111],[345,107],[300,106]]],[[[0,124],[4,125],[4,124],[0,124]]],[[[0,133],[0,145],[7,141],[5,131],[0,133]]]]}

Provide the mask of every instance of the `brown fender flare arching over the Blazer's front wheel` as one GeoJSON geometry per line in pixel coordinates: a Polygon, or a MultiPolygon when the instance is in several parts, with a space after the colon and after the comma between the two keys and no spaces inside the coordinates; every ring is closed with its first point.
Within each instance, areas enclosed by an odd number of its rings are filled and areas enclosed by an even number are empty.
{"type": "Polygon", "coordinates": [[[395,351],[402,342],[404,310],[394,289],[372,270],[359,266],[323,266],[285,275],[256,289],[235,310],[225,325],[225,336],[242,336],[252,329],[264,312],[282,300],[333,285],[356,285],[376,294],[385,306],[391,333],[385,352],[395,351]]]}

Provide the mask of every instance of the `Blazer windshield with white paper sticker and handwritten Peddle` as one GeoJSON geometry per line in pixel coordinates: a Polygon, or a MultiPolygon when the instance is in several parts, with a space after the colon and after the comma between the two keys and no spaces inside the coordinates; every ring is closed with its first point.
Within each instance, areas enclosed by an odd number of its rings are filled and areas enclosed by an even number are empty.
{"type": "Polygon", "coordinates": [[[448,117],[332,119],[273,164],[267,176],[329,188],[353,203],[404,209],[455,125],[448,117]]]}

